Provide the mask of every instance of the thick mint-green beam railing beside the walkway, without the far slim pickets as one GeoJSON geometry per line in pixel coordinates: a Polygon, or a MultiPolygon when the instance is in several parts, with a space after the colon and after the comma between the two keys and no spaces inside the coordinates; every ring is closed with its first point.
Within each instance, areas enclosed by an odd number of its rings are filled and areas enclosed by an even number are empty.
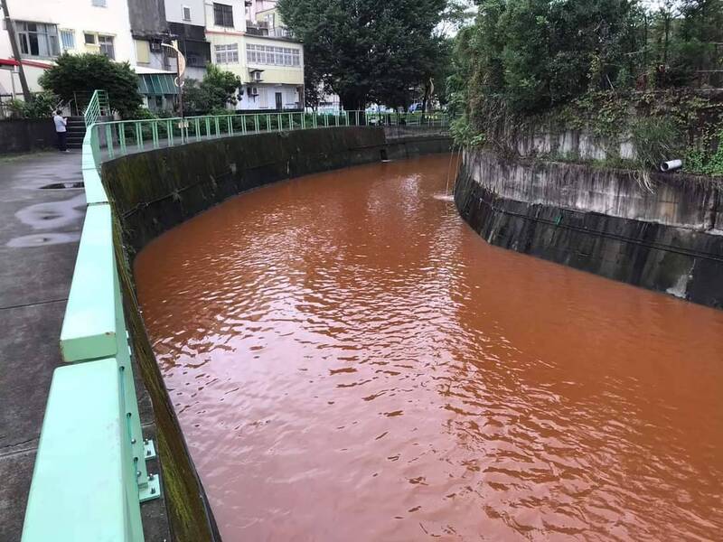
{"type": "MultiPolygon", "coordinates": [[[[105,115],[104,93],[86,108],[105,115]]],[[[107,99],[107,98],[106,98],[107,99]]],[[[100,184],[93,131],[83,141],[87,208],[68,304],[61,353],[42,423],[23,542],[142,541],[140,503],[161,495],[155,457],[138,416],[111,208],[100,184]]]]}

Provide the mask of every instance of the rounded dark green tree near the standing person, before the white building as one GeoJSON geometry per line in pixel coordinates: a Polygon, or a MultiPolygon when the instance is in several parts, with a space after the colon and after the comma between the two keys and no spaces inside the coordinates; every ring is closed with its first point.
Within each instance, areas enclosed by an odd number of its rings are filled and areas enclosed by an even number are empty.
{"type": "Polygon", "coordinates": [[[78,98],[78,107],[85,106],[94,90],[106,90],[110,107],[124,118],[132,117],[143,103],[138,76],[130,64],[111,61],[103,54],[64,52],[38,80],[63,101],[78,98]]]}

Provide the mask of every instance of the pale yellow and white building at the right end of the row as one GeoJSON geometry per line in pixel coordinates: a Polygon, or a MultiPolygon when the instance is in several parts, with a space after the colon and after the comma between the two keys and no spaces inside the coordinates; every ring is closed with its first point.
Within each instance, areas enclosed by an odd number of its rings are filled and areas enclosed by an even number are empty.
{"type": "Polygon", "coordinates": [[[303,107],[304,47],[277,36],[250,13],[243,0],[206,5],[206,37],[212,61],[241,80],[239,110],[283,110],[303,107]]]}

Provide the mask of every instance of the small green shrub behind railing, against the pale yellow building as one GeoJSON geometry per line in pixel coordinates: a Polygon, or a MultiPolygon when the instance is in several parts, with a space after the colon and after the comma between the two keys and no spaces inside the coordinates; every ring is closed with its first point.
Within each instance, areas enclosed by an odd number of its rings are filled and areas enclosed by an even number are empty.
{"type": "Polygon", "coordinates": [[[223,115],[227,106],[236,104],[236,92],[241,85],[238,76],[221,70],[215,64],[206,66],[201,82],[186,80],[183,87],[183,106],[189,115],[223,115]]]}

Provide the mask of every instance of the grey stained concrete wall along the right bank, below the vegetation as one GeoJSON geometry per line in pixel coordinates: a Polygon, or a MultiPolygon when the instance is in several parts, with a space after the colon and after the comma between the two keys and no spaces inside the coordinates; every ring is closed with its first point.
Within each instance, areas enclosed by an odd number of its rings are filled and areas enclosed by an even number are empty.
{"type": "Polygon", "coordinates": [[[462,217],[489,243],[723,308],[723,188],[710,178],[467,150],[462,217]]]}

